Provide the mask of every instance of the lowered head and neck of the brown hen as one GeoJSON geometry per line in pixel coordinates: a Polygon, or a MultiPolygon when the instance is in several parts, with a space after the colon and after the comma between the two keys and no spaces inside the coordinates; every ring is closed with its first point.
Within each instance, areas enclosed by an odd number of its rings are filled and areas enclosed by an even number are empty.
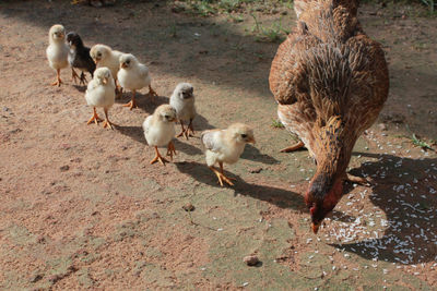
{"type": "Polygon", "coordinates": [[[343,181],[356,137],[345,129],[340,117],[320,125],[315,135],[312,151],[317,170],[305,202],[311,215],[312,231],[317,233],[324,217],[343,196],[343,181]]]}

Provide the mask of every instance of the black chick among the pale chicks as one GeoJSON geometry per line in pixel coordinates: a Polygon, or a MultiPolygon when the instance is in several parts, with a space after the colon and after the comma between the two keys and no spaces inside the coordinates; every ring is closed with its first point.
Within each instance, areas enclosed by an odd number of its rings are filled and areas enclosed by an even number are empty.
{"type": "Polygon", "coordinates": [[[71,32],[67,35],[67,44],[70,47],[68,61],[71,65],[71,78],[76,82],[76,78],[80,78],[80,84],[85,85],[86,77],[84,72],[90,72],[93,77],[94,70],[96,68],[93,59],[90,56],[90,48],[83,45],[81,37],[71,32]],[[76,74],[74,68],[82,71],[81,76],[76,74]]]}

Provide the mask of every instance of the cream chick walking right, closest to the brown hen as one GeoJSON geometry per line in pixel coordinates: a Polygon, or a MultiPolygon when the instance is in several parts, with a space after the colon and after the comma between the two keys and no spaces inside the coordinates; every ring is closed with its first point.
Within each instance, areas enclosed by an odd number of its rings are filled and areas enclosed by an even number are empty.
{"type": "Polygon", "coordinates": [[[234,123],[226,130],[204,131],[200,137],[206,156],[206,165],[218,178],[218,183],[223,186],[223,182],[234,185],[223,172],[223,162],[235,163],[245,149],[247,143],[255,144],[253,131],[243,123],[234,123]],[[214,168],[218,162],[220,171],[214,168]]]}

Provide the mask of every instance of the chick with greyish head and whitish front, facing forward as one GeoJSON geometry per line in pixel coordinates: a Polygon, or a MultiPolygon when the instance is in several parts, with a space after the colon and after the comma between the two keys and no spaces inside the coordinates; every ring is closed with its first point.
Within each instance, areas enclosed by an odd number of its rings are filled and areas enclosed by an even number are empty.
{"type": "Polygon", "coordinates": [[[170,97],[170,106],[176,109],[177,119],[182,128],[178,137],[184,135],[188,140],[188,136],[191,135],[190,131],[194,134],[192,120],[196,117],[194,94],[190,83],[179,83],[176,86],[170,97]],[[187,129],[184,128],[184,121],[189,122],[187,129]]]}

